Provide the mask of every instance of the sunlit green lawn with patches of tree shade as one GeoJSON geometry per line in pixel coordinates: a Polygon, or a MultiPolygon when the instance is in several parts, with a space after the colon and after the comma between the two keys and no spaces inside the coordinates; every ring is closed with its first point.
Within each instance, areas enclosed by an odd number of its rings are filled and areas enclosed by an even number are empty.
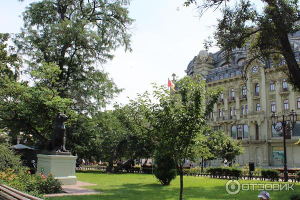
{"type": "MultiPolygon", "coordinates": [[[[179,176],[169,186],[161,186],[155,176],[151,174],[106,174],[97,172],[76,173],[78,180],[95,183],[97,186],[88,186],[103,193],[85,196],[64,196],[49,199],[178,199],[179,198],[179,176]]],[[[184,176],[183,177],[183,199],[258,199],[259,191],[240,191],[236,195],[230,195],[225,191],[227,180],[184,176]]],[[[240,182],[247,182],[242,180],[240,182]]],[[[266,181],[251,181],[266,182],[266,181]]],[[[300,191],[300,183],[294,185],[295,191],[300,191]]],[[[292,191],[270,191],[271,199],[289,199],[292,191]]]]}

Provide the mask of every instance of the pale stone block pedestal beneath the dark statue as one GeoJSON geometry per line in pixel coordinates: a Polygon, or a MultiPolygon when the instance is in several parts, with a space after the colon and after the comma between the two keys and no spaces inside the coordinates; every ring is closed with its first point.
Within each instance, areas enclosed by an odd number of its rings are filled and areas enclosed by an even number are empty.
{"type": "Polygon", "coordinates": [[[64,185],[76,184],[75,164],[77,156],[72,155],[37,155],[37,171],[44,169],[45,175],[51,173],[64,185]]]}

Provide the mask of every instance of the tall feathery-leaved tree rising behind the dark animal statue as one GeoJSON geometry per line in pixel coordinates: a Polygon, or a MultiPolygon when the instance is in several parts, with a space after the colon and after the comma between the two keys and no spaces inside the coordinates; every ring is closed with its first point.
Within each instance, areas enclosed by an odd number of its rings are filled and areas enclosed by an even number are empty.
{"type": "Polygon", "coordinates": [[[42,62],[55,63],[58,93],[73,101],[72,109],[92,113],[120,89],[96,67],[123,45],[130,48],[129,0],[41,0],[23,12],[24,28],[14,38],[32,71],[42,62]]]}

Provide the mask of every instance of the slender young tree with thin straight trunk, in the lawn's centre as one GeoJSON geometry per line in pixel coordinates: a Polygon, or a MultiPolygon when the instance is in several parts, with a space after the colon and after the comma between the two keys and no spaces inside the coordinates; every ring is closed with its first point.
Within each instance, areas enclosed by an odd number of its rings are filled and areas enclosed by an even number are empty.
{"type": "Polygon", "coordinates": [[[178,91],[170,94],[161,86],[154,85],[154,97],[159,103],[151,105],[151,125],[157,132],[158,141],[164,141],[174,157],[180,175],[180,194],[183,195],[183,164],[196,136],[205,125],[205,117],[212,110],[220,90],[205,90],[199,76],[185,76],[176,81],[178,91]]]}

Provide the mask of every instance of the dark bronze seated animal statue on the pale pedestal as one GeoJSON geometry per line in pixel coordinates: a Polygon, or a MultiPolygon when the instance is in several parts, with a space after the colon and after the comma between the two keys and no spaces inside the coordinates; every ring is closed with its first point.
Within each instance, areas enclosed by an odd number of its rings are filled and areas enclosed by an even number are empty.
{"type": "Polygon", "coordinates": [[[65,114],[57,113],[51,138],[47,142],[48,150],[56,152],[68,152],[65,149],[65,127],[63,123],[66,120],[67,116],[65,114]]]}

